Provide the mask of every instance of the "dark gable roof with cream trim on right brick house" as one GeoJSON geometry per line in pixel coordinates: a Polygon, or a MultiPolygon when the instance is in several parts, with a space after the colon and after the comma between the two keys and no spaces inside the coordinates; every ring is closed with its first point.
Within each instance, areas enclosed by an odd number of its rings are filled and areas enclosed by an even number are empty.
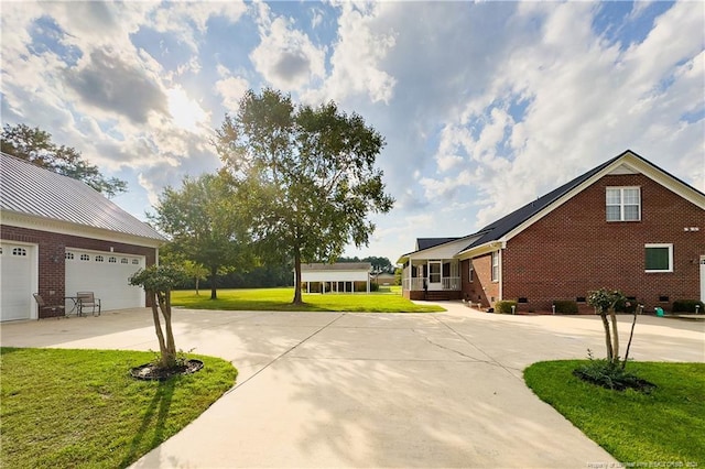
{"type": "MultiPolygon", "coordinates": [[[[649,162],[631,150],[626,150],[614,159],[606,161],[599,166],[594,167],[587,173],[582,174],[581,176],[550,192],[549,194],[539,197],[536,200],[531,201],[523,207],[512,211],[511,214],[500,218],[499,220],[486,226],[477,232],[478,234],[480,234],[479,238],[460,252],[468,251],[473,248],[477,248],[492,241],[499,241],[502,237],[519,229],[523,223],[529,222],[532,218],[540,217],[542,212],[546,212],[552,207],[557,206],[563,200],[570,198],[571,193],[574,190],[579,190],[581,186],[588,184],[594,178],[601,177],[604,174],[607,174],[607,172],[612,168],[612,166],[618,166],[618,162],[627,160],[631,160],[633,163],[642,166],[642,168],[646,170],[647,173],[644,173],[647,176],[651,178],[665,177],[666,179],[670,179],[671,183],[674,183],[675,186],[685,188],[686,192],[692,193],[695,196],[698,196],[698,198],[705,200],[705,194],[701,193],[696,188],[690,186],[687,183],[679,179],[666,171],[660,168],[659,166],[654,165],[653,163],[649,162]]],[[[701,201],[701,206],[702,205],[703,201],[701,201]]]]}

